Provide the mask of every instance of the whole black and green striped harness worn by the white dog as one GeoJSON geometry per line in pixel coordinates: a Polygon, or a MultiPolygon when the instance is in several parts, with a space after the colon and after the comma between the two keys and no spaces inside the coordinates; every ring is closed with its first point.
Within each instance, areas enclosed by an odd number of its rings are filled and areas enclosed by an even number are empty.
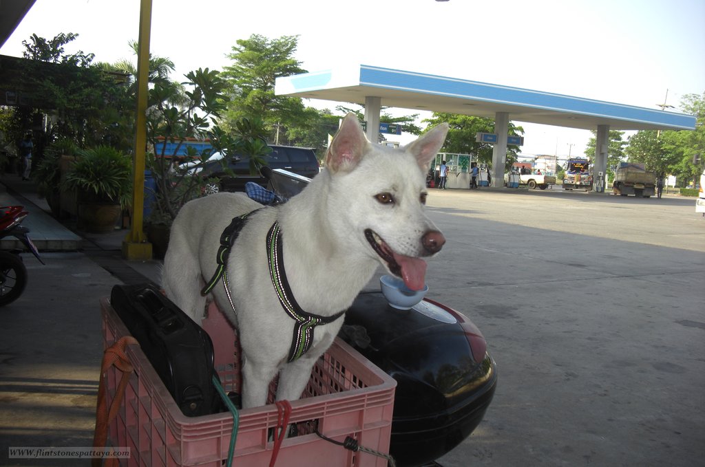
{"type": "MultiPolygon", "coordinates": [[[[240,234],[240,230],[242,230],[245,223],[247,223],[247,217],[257,211],[259,210],[233,218],[230,225],[223,230],[221,235],[221,245],[218,248],[218,253],[216,254],[216,262],[218,263],[218,267],[216,268],[216,272],[211,280],[209,280],[201,289],[202,295],[209,294],[213,290],[213,287],[215,287],[218,281],[222,278],[225,292],[228,295],[228,300],[230,301],[233,310],[235,310],[235,305],[233,304],[233,298],[230,294],[230,287],[228,286],[228,256],[230,255],[230,250],[233,247],[233,244],[235,244],[235,239],[237,239],[240,234]]],[[[266,251],[267,259],[269,259],[269,275],[271,276],[271,283],[274,285],[276,296],[278,297],[282,308],[286,311],[286,314],[294,320],[294,332],[291,340],[291,347],[289,349],[289,355],[287,357],[287,362],[290,363],[296,359],[299,359],[300,356],[305,354],[311,348],[311,345],[313,344],[313,332],[317,325],[333,323],[333,321],[345,314],[345,310],[340,311],[333,316],[319,316],[314,315],[313,313],[307,313],[301,309],[299,304],[294,299],[291,288],[289,287],[289,281],[286,279],[286,271],[283,267],[284,254],[281,240],[281,228],[279,227],[279,223],[276,221],[267,233],[266,251]]],[[[235,313],[237,313],[237,310],[235,310],[235,313]]]]}

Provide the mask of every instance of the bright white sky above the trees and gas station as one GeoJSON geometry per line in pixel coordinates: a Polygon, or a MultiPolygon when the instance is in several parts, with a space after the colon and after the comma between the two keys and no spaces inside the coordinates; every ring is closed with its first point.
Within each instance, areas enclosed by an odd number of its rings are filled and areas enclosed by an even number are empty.
{"type": "MultiPolygon", "coordinates": [[[[0,54],[22,56],[32,34],[74,32],[68,53],[135,61],[128,42],[139,18],[139,0],[37,0],[0,54]]],[[[153,0],[151,34],[150,51],[171,58],[174,79],[222,70],[236,41],[258,34],[298,36],[295,58],[309,72],[364,64],[645,108],[668,93],[673,111],[705,92],[705,0],[153,0]]],[[[582,155],[592,136],[514,123],[526,156],[582,155]]]]}

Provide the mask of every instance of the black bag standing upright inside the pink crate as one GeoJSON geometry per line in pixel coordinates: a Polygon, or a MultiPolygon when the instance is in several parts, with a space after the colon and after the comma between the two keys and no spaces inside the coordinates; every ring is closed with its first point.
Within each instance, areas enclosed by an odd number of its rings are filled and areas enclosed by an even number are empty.
{"type": "Polygon", "coordinates": [[[183,414],[219,412],[208,333],[152,284],[116,285],[110,301],[183,414]]]}

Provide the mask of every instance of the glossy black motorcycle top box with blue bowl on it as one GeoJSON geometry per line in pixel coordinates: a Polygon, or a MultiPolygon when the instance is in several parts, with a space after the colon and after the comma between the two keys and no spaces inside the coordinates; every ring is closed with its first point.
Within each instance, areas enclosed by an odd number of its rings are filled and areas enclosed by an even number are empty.
{"type": "Polygon", "coordinates": [[[341,337],[397,381],[390,454],[398,466],[438,459],[482,421],[496,363],[457,311],[429,299],[395,309],[381,292],[366,292],[345,313],[341,337]]]}

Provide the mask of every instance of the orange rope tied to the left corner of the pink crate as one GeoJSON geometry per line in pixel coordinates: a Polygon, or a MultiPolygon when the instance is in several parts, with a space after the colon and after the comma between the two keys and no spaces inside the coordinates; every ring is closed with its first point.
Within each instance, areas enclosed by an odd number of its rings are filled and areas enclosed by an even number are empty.
{"type": "MultiPolygon", "coordinates": [[[[128,345],[137,344],[137,340],[132,336],[125,336],[118,339],[114,344],[105,349],[103,354],[103,363],[100,368],[100,383],[98,385],[98,403],[96,404],[95,410],[95,432],[93,436],[93,447],[97,449],[103,449],[108,440],[108,425],[115,418],[120,409],[120,404],[123,401],[125,395],[125,387],[128,385],[130,373],[133,372],[133,366],[130,363],[125,351],[128,345]],[[111,368],[111,366],[116,366],[118,370],[123,372],[123,377],[120,380],[120,384],[115,392],[115,398],[110,404],[110,409],[107,407],[106,395],[107,388],[105,386],[105,373],[111,368]]],[[[102,459],[94,457],[92,460],[92,467],[100,467],[102,464],[102,459]]],[[[111,457],[106,459],[105,467],[118,466],[118,459],[111,457]]]]}

